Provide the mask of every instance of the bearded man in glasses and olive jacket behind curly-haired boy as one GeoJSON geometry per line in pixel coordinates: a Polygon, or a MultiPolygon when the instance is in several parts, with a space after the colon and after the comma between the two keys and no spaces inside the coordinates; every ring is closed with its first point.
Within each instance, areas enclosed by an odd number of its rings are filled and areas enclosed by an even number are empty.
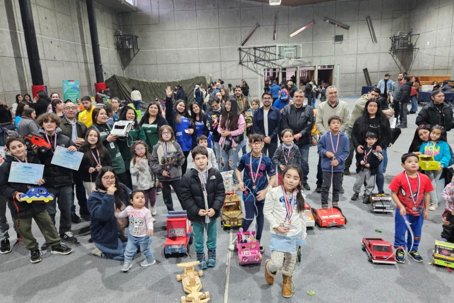
{"type": "MultiPolygon", "coordinates": [[[[76,105],[72,102],[65,103],[63,106],[63,113],[64,117],[61,119],[60,123],[61,134],[71,138],[71,141],[73,141],[77,147],[80,147],[84,142],[83,138],[85,138],[87,127],[82,122],[76,120],[76,105]]],[[[87,196],[80,174],[74,173],[73,177],[74,183],[72,185],[71,222],[80,223],[81,220],[76,214],[76,205],[74,205],[74,187],[76,187],[76,197],[79,202],[79,214],[85,217],[88,217],[90,214],[88,213],[87,196]]]]}

